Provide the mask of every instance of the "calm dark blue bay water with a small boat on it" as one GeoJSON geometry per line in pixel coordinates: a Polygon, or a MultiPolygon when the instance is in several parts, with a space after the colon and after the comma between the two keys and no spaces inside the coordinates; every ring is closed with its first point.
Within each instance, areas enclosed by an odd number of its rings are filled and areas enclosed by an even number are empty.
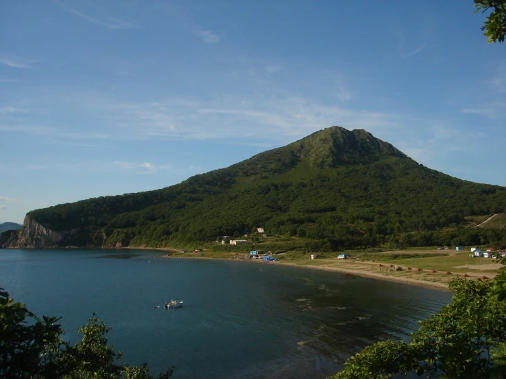
{"type": "Polygon", "coordinates": [[[174,378],[325,378],[368,343],[403,339],[451,294],[276,263],[128,250],[0,250],[0,287],[66,339],[92,313],[131,364],[174,378]],[[164,309],[166,300],[184,300],[164,309]],[[160,306],[160,308],[155,308],[160,306]]]}

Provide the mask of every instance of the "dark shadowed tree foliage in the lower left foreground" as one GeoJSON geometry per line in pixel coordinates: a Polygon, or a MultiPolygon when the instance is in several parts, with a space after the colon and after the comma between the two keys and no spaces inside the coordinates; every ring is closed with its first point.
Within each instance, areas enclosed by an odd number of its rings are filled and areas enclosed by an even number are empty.
{"type": "MultiPolygon", "coordinates": [[[[121,362],[123,354],[107,344],[110,328],[97,315],[78,329],[83,339],[75,345],[62,339],[59,319],[39,319],[0,288],[0,378],[153,379],[147,365],[121,362]]],[[[169,368],[158,378],[172,372],[169,368]]]]}

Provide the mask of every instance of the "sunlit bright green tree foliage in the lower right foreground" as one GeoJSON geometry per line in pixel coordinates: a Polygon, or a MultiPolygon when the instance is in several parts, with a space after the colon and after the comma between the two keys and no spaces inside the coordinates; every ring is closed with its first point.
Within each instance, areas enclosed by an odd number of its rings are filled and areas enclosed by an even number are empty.
{"type": "Polygon", "coordinates": [[[333,379],[506,377],[506,269],[493,283],[457,278],[455,296],[420,322],[411,341],[381,341],[349,358],[333,379]]]}

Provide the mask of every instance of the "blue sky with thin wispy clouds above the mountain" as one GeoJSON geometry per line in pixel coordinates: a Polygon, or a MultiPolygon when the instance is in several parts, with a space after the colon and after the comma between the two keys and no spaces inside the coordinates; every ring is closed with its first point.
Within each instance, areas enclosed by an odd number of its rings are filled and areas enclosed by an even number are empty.
{"type": "Polygon", "coordinates": [[[8,1],[0,222],[224,168],[332,125],[506,185],[506,45],[448,1],[8,1]]]}

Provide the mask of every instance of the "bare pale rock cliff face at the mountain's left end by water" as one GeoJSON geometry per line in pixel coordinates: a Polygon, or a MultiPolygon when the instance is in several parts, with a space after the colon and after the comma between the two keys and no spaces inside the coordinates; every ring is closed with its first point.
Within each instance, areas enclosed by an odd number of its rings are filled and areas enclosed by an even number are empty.
{"type": "Polygon", "coordinates": [[[45,228],[33,218],[25,217],[23,227],[19,231],[16,238],[5,244],[7,248],[53,248],[58,246],[68,235],[73,235],[76,230],[72,231],[51,231],[45,228]]]}

